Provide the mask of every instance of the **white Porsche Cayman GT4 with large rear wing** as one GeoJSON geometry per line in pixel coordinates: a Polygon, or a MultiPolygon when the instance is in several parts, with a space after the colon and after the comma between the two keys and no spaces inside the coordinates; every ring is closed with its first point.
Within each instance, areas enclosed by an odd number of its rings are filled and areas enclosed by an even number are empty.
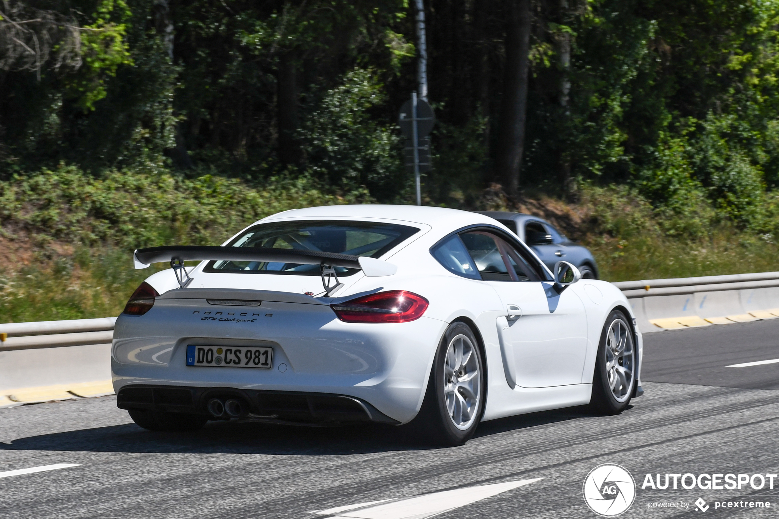
{"type": "Polygon", "coordinates": [[[619,289],[565,261],[552,274],[474,212],[294,209],[221,247],[134,260],[172,267],[138,287],[114,331],[117,404],[149,430],[372,421],[463,444],[482,420],[587,403],[618,413],[643,393],[619,289]]]}

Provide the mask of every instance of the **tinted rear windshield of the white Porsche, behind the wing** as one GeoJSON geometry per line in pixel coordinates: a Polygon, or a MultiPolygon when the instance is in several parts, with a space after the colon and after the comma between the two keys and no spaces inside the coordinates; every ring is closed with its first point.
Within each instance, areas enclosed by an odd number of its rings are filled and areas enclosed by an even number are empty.
{"type": "MultiPolygon", "coordinates": [[[[228,247],[268,247],[301,251],[323,251],[379,258],[386,251],[419,231],[396,223],[344,222],[340,220],[298,220],[260,223],[232,240],[228,247]]],[[[319,275],[319,265],[277,261],[210,261],[206,272],[249,274],[319,275]]],[[[358,272],[336,267],[339,275],[358,272]]]]}

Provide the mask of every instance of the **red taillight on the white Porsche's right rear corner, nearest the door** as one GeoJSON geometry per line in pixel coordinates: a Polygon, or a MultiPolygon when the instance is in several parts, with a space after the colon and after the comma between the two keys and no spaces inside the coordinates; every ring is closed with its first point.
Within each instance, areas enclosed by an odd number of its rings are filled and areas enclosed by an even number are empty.
{"type": "Polygon", "coordinates": [[[389,290],[358,297],[330,307],[347,323],[406,323],[414,321],[428,309],[424,297],[405,290],[389,290]]]}

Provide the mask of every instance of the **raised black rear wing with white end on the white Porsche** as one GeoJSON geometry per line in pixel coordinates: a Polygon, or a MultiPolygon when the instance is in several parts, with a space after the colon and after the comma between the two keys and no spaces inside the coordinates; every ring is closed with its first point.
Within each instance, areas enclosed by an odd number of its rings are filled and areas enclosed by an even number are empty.
{"type": "Polygon", "coordinates": [[[169,261],[178,280],[185,288],[192,282],[184,268],[184,261],[273,261],[279,263],[298,263],[301,265],[319,265],[322,269],[322,284],[328,296],[344,286],[338,281],[334,267],[357,268],[370,277],[393,275],[397,266],[386,261],[366,256],[336,254],[333,252],[308,251],[295,249],[272,249],[269,247],[209,247],[204,245],[167,245],[136,249],[132,253],[136,268],[146,268],[152,263],[169,261]],[[335,285],[330,286],[330,279],[335,285]]]}

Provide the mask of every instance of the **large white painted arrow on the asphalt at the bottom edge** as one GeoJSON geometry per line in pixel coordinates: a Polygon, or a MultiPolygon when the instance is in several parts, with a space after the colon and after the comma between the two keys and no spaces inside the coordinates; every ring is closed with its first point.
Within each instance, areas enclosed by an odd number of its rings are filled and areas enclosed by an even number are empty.
{"type": "Polygon", "coordinates": [[[516,489],[518,486],[541,481],[544,478],[523,479],[492,485],[470,486],[464,489],[445,490],[401,500],[374,501],[347,507],[320,510],[313,514],[330,516],[331,519],[425,519],[448,510],[464,507],[516,489]],[[377,504],[379,503],[379,504],[377,504]]]}

